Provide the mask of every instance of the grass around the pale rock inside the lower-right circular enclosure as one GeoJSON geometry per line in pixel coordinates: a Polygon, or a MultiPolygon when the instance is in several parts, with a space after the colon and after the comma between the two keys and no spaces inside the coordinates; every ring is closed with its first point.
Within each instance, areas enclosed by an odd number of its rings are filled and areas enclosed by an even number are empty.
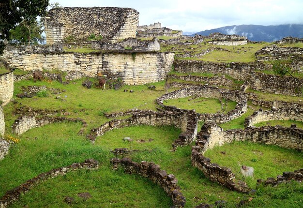
{"type": "Polygon", "coordinates": [[[207,150],[205,156],[211,158],[212,163],[231,168],[236,178],[244,180],[251,188],[256,187],[258,178],[276,178],[277,175],[282,175],[285,171],[293,172],[303,167],[302,151],[251,142],[233,142],[217,146],[207,150]],[[254,177],[242,177],[241,165],[253,167],[254,177]]]}

